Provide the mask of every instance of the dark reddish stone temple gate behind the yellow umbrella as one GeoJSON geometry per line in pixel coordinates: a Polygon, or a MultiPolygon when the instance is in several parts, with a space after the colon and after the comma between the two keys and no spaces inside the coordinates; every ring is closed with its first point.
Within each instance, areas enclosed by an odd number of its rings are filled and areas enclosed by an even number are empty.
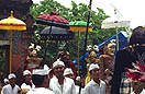
{"type": "MultiPolygon", "coordinates": [[[[29,12],[32,4],[32,0],[0,0],[0,20],[10,16],[12,10],[14,17],[26,23],[26,31],[12,31],[12,72],[22,69],[30,40],[34,37],[33,16],[29,12]]],[[[0,75],[9,73],[9,55],[10,31],[0,30],[0,75]]]]}

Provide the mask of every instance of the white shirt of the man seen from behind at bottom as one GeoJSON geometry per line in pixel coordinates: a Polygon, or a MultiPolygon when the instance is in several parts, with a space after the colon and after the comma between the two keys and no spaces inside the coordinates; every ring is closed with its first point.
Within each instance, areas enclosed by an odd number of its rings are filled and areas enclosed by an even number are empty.
{"type": "Polygon", "coordinates": [[[30,90],[26,94],[55,94],[55,93],[45,87],[35,87],[30,90]]]}

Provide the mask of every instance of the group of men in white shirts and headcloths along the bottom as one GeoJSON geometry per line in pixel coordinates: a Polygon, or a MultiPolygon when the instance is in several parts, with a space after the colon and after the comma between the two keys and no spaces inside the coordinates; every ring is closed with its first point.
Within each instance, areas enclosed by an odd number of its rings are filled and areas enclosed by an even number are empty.
{"type": "MultiPolygon", "coordinates": [[[[105,94],[105,83],[98,77],[99,66],[90,64],[89,71],[93,79],[82,89],[81,94],[105,94]]],[[[75,80],[72,70],[66,68],[59,59],[53,63],[52,69],[34,69],[32,73],[29,70],[23,71],[23,78],[24,81],[19,86],[15,84],[16,75],[10,73],[9,80],[4,79],[1,94],[79,94],[82,82],[80,77],[75,80]],[[54,72],[53,77],[49,75],[51,71],[54,72]]]]}

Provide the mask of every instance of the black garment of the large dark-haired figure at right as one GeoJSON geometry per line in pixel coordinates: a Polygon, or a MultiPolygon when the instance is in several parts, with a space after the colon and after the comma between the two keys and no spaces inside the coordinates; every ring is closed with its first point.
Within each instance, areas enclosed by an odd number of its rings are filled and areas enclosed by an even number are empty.
{"type": "Polygon", "coordinates": [[[136,62],[136,58],[131,49],[126,48],[116,52],[111,94],[120,94],[121,74],[126,68],[133,68],[132,62],[136,62]]]}

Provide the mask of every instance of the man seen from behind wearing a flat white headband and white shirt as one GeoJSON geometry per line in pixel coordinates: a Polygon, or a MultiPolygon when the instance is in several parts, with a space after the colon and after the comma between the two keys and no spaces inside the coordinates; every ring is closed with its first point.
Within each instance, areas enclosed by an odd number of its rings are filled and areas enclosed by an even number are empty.
{"type": "Polygon", "coordinates": [[[48,73],[49,70],[33,70],[32,81],[35,87],[29,91],[26,94],[55,94],[53,91],[48,90],[48,73]]]}

